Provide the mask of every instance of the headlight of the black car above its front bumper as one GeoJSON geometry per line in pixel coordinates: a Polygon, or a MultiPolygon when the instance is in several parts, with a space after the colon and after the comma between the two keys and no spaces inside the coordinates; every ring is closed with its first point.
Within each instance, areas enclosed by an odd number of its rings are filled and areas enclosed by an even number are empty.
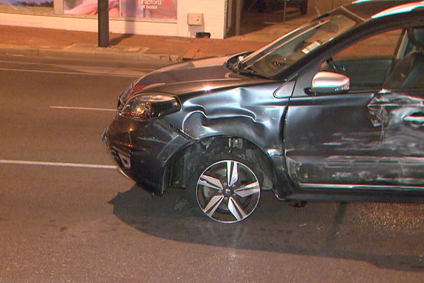
{"type": "Polygon", "coordinates": [[[181,104],[174,95],[138,94],[128,99],[120,113],[129,119],[146,121],[180,110],[181,104]]]}

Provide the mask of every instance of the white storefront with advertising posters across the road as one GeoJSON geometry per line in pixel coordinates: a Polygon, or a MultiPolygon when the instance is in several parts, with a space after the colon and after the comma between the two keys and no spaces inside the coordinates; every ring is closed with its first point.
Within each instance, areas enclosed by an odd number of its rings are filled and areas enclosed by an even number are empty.
{"type": "MultiPolygon", "coordinates": [[[[0,25],[97,32],[97,1],[0,0],[0,25]]],[[[308,13],[328,6],[326,0],[304,1],[309,2],[308,13]]],[[[334,0],[331,7],[319,10],[324,12],[346,1],[334,0]]],[[[206,34],[211,38],[225,38],[240,28],[243,2],[252,5],[260,0],[108,0],[109,31],[182,37],[206,34]]]]}

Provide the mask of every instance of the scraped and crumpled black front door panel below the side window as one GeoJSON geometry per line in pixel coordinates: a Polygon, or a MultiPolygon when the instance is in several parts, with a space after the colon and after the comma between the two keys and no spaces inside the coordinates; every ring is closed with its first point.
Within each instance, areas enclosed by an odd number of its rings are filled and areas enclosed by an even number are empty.
{"type": "Polygon", "coordinates": [[[302,189],[421,189],[423,91],[294,97],[284,141],[302,189]]]}

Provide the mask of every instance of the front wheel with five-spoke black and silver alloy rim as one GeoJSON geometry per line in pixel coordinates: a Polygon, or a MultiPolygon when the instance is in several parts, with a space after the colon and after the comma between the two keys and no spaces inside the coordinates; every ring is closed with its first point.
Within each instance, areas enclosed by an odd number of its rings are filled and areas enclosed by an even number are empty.
{"type": "Polygon", "coordinates": [[[218,160],[200,172],[194,174],[189,193],[194,194],[201,212],[212,220],[239,222],[257,207],[261,185],[254,170],[244,162],[218,160]]]}

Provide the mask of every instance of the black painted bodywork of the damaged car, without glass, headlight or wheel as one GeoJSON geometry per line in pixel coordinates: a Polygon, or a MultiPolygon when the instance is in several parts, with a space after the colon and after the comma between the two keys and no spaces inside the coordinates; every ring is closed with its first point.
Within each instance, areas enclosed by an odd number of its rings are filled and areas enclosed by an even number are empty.
{"type": "MultiPolygon", "coordinates": [[[[366,2],[352,5],[353,11],[361,11],[360,17],[354,18],[368,19],[381,10],[382,2],[378,3],[380,6],[366,2]]],[[[341,10],[351,14],[345,8],[341,10]]],[[[157,194],[168,185],[178,185],[165,179],[172,175],[167,170],[176,162],[174,158],[181,157],[179,153],[220,136],[242,138],[261,149],[275,168],[271,179],[280,198],[315,199],[325,195],[325,199],[337,199],[345,194],[341,199],[352,199],[369,192],[388,200],[388,196],[396,199],[411,190],[411,201],[418,201],[417,196],[423,197],[424,183],[424,152],[419,143],[422,128],[397,119],[394,112],[405,111],[405,107],[412,108],[412,116],[423,112],[423,93],[411,94],[421,102],[413,99],[415,102],[408,104],[405,101],[411,95],[395,93],[388,98],[378,89],[315,96],[305,93],[304,88],[319,71],[319,63],[337,50],[383,30],[424,25],[423,15],[421,9],[411,12],[407,20],[400,21],[404,17],[400,14],[363,22],[273,79],[232,72],[226,62],[237,56],[155,71],[138,81],[138,85],[148,86],[142,92],[174,94],[182,110],[148,122],[117,116],[106,133],[109,148],[118,163],[118,151],[128,155],[132,166],[125,173],[157,194]],[[199,63],[201,67],[196,67],[199,63]],[[386,100],[387,104],[381,103],[386,100]],[[416,144],[412,158],[397,150],[399,134],[416,144]],[[380,154],[388,157],[380,158],[380,154]],[[345,169],[340,171],[341,167],[345,169]]]]}

